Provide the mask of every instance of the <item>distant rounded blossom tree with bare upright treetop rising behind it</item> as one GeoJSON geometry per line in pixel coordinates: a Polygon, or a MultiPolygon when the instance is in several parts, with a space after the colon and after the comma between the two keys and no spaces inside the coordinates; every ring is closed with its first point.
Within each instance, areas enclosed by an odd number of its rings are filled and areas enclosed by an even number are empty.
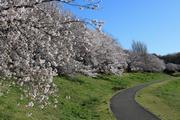
{"type": "Polygon", "coordinates": [[[164,61],[149,54],[147,46],[140,41],[133,41],[128,54],[128,71],[161,72],[165,69],[164,61]]]}

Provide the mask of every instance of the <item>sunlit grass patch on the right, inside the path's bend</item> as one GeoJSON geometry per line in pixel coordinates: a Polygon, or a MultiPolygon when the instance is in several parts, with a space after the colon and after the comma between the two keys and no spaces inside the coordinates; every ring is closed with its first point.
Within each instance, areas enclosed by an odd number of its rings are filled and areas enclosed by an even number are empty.
{"type": "Polygon", "coordinates": [[[173,79],[151,85],[136,95],[136,100],[161,120],[180,120],[180,78],[173,79]]]}

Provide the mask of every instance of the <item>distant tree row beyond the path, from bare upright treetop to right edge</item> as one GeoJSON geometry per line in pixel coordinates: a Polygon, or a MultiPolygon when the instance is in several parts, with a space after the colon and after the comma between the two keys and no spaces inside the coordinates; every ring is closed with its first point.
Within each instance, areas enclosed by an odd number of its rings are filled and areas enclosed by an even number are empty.
{"type": "Polygon", "coordinates": [[[148,54],[147,46],[140,41],[133,41],[129,51],[128,71],[167,72],[180,71],[180,53],[166,56],[148,54]]]}

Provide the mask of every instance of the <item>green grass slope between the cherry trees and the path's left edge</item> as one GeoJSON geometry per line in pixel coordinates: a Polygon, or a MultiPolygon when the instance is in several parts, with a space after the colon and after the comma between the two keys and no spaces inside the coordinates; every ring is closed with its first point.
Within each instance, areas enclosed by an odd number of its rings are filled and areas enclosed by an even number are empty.
{"type": "Polygon", "coordinates": [[[100,75],[97,78],[76,75],[55,77],[59,88],[58,105],[43,110],[39,105],[25,107],[29,99],[20,99],[22,90],[7,83],[0,84],[0,120],[114,120],[109,100],[115,92],[152,80],[165,80],[161,73],[129,73],[123,76],[100,75]],[[31,117],[27,117],[32,113],[31,117]]]}

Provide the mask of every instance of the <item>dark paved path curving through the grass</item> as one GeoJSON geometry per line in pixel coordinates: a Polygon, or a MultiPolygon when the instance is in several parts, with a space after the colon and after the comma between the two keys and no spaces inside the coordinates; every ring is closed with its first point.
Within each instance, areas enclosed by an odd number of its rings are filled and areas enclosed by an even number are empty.
{"type": "Polygon", "coordinates": [[[110,108],[117,120],[160,120],[135,101],[138,90],[160,81],[149,82],[123,90],[110,100],[110,108]]]}

